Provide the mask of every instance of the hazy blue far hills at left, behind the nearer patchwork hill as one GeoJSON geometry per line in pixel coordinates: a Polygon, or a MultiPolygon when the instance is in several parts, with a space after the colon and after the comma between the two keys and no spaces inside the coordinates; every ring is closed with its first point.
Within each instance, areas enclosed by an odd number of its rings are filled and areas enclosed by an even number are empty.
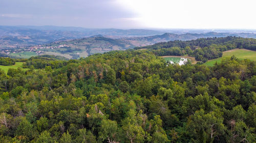
{"type": "Polygon", "coordinates": [[[39,44],[79,39],[94,35],[110,38],[153,36],[164,32],[153,30],[90,29],[61,26],[0,26],[0,48],[17,48],[39,44]]]}

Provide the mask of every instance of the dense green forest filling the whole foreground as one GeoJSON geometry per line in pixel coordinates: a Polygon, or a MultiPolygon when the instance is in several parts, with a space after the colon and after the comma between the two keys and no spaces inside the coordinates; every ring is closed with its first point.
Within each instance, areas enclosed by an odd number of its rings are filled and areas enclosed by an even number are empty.
{"type": "Polygon", "coordinates": [[[0,142],[255,142],[256,63],[112,51],[0,70],[0,142]],[[10,72],[9,72],[10,71],[10,72]]]}

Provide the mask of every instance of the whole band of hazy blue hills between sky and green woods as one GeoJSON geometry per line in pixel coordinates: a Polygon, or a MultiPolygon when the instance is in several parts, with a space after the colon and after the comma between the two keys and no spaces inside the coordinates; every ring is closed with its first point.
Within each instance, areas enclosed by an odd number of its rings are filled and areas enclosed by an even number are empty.
{"type": "Polygon", "coordinates": [[[31,51],[79,58],[111,50],[125,50],[174,40],[237,36],[256,38],[254,31],[219,30],[119,30],[60,26],[0,26],[2,53],[31,51]],[[185,31],[191,33],[185,33],[185,31]],[[174,32],[174,33],[166,33],[174,32]],[[202,33],[199,33],[202,32],[202,33]],[[207,32],[207,33],[205,33],[207,32]],[[6,51],[8,49],[8,51],[6,51]],[[10,51],[11,49],[11,51],[10,51]],[[16,50],[18,49],[18,50],[16,50]],[[3,52],[3,50],[5,50],[3,52]]]}

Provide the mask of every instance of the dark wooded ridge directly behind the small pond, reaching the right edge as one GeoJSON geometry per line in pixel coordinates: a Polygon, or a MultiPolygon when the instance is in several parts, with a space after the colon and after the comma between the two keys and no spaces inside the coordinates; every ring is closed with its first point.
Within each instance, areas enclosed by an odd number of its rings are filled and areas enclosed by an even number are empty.
{"type": "Polygon", "coordinates": [[[183,55],[195,56],[197,61],[206,62],[222,56],[222,52],[234,48],[256,50],[256,39],[240,37],[200,38],[190,41],[160,42],[154,45],[136,47],[135,49],[151,49],[156,55],[183,55]],[[177,48],[180,52],[177,54],[177,48]]]}

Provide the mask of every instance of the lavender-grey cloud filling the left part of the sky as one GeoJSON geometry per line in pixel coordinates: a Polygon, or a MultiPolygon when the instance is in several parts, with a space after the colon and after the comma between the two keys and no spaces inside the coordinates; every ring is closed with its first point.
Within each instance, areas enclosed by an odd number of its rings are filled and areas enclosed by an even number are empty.
{"type": "Polygon", "coordinates": [[[0,2],[2,25],[62,25],[82,27],[136,27],[136,14],[114,0],[4,0],[0,2]]]}

